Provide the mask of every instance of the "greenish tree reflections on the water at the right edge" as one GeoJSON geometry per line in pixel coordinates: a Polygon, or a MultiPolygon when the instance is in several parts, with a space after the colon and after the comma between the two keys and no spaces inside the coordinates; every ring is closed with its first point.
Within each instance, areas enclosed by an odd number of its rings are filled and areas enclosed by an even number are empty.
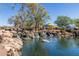
{"type": "Polygon", "coordinates": [[[59,40],[59,47],[62,48],[79,47],[79,37],[69,37],[69,38],[61,37],[61,40],[59,40]]]}

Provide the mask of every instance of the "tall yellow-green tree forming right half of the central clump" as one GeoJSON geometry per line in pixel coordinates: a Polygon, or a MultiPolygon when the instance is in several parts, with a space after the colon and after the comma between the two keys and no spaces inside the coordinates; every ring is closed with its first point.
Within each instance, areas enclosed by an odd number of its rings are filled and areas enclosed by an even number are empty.
{"type": "Polygon", "coordinates": [[[28,6],[28,14],[32,21],[34,21],[35,30],[38,30],[40,26],[43,26],[45,21],[50,19],[45,8],[40,6],[39,4],[27,4],[28,6]]]}

